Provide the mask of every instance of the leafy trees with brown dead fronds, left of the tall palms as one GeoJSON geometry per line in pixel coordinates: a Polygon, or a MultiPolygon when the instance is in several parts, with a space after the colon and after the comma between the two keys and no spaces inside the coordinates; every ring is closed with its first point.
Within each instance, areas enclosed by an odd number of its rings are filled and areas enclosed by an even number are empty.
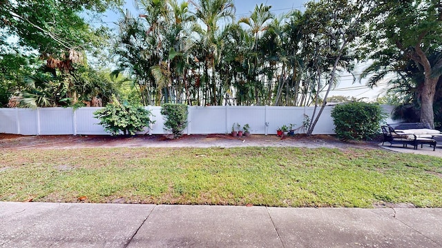
{"type": "Polygon", "coordinates": [[[94,76],[81,68],[89,67],[86,52],[102,48],[108,36],[106,28],[93,28],[82,14],[116,8],[122,0],[3,0],[0,5],[0,70],[8,72],[0,76],[2,91],[37,100],[32,106],[90,98],[86,89],[94,76]]]}

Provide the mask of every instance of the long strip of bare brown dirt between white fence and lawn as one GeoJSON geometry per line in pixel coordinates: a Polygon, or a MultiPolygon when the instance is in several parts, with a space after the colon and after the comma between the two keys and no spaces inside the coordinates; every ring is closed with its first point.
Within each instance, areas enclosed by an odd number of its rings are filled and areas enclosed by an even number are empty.
{"type": "Polygon", "coordinates": [[[378,149],[376,142],[343,142],[329,135],[276,135],[232,137],[227,134],[184,135],[172,139],[166,135],[139,136],[22,136],[0,134],[0,149],[69,149],[85,147],[329,147],[378,149]]]}

